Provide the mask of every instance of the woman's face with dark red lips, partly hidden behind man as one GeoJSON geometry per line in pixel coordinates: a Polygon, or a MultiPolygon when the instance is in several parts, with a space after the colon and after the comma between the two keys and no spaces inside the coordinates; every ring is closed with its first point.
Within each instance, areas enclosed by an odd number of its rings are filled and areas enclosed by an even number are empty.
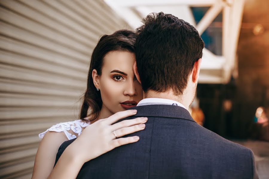
{"type": "Polygon", "coordinates": [[[101,75],[93,71],[93,81],[103,101],[101,112],[111,115],[135,107],[143,98],[142,87],[133,72],[134,62],[134,53],[111,51],[104,57],[101,75]]]}

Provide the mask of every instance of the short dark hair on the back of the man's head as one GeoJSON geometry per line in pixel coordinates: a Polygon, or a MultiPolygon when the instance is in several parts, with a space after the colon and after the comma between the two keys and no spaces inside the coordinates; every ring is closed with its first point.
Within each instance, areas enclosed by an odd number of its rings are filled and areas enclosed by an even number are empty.
{"type": "Polygon", "coordinates": [[[204,41],[188,22],[171,14],[151,13],[136,29],[137,71],[144,92],[172,89],[182,95],[204,41]]]}

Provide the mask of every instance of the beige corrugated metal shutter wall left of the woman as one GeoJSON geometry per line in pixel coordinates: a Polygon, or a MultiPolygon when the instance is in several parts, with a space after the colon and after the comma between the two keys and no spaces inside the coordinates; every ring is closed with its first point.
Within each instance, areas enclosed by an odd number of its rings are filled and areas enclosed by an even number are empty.
{"type": "Polygon", "coordinates": [[[98,0],[0,5],[0,178],[31,178],[38,134],[78,118],[98,39],[128,26],[98,0]]]}

